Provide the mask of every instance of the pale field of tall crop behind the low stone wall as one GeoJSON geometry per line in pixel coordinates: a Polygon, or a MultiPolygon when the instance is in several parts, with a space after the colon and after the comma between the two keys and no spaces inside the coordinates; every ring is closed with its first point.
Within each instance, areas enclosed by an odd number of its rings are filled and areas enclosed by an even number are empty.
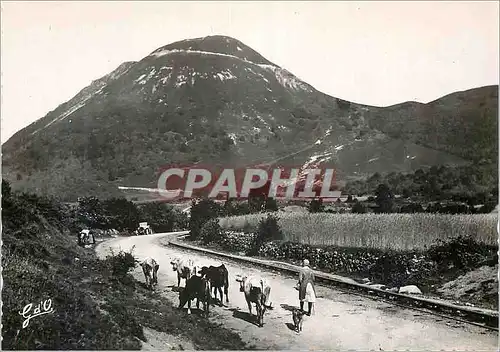
{"type": "MultiPolygon", "coordinates": [[[[275,212],[286,241],[310,245],[413,250],[438,240],[471,236],[498,242],[496,214],[327,214],[275,212]]],[[[255,230],[266,214],[220,218],[226,230],[255,230]]]]}

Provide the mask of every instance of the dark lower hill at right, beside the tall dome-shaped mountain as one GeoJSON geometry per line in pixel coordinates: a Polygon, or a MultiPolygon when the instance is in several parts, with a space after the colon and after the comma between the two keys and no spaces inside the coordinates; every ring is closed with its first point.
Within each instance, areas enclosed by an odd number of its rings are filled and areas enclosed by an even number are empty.
{"type": "Polygon", "coordinates": [[[474,161],[498,158],[498,86],[456,92],[428,104],[372,109],[368,118],[371,127],[391,137],[474,161]]]}

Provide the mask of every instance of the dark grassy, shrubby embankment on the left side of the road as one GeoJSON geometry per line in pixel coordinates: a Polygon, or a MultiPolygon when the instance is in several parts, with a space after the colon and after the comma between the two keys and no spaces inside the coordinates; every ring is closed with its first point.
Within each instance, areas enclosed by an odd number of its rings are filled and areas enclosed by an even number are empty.
{"type": "Polygon", "coordinates": [[[82,224],[76,215],[54,199],[12,192],[2,181],[2,349],[139,350],[145,327],[182,336],[196,349],[246,348],[236,333],[187,316],[136,281],[133,251],[99,260],[79,247],[71,230],[82,224]],[[48,299],[54,312],[23,328],[19,312],[32,303],[33,314],[48,299]]]}

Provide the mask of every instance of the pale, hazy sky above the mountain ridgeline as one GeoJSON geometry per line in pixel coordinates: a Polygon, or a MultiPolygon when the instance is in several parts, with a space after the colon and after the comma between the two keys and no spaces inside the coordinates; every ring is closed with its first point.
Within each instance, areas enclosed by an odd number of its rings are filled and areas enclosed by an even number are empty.
{"type": "Polygon", "coordinates": [[[491,2],[2,1],[2,143],[120,63],[228,35],[316,89],[385,106],[498,84],[491,2]]]}

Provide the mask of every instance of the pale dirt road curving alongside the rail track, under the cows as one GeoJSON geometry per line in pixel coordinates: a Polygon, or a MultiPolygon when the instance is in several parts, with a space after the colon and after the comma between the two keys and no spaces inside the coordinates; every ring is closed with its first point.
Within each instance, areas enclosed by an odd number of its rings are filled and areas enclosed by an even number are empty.
{"type": "MultiPolygon", "coordinates": [[[[172,285],[177,285],[176,273],[169,264],[172,258],[190,257],[199,265],[220,265],[224,262],[229,271],[229,304],[228,307],[211,308],[209,319],[238,332],[243,341],[258,349],[497,350],[498,333],[495,331],[320,285],[316,287],[316,311],[310,317],[305,317],[303,331],[297,334],[289,328],[292,324],[289,308],[298,306],[298,293],[294,289],[297,278],[165,246],[163,243],[167,243],[171,236],[177,235],[170,233],[114,238],[100,244],[97,252],[103,257],[109,253],[109,248],[128,251],[135,246],[134,255],[138,259],[147,256],[155,258],[160,264],[157,290],[175,305],[179,300],[178,293],[172,289],[172,285]],[[274,309],[266,312],[262,328],[248,321],[247,304],[235,280],[237,274],[260,274],[272,283],[271,301],[274,309]]],[[[144,281],[140,268],[134,270],[134,276],[144,281]]],[[[184,286],[184,280],[181,280],[181,286],[184,286]]]]}

